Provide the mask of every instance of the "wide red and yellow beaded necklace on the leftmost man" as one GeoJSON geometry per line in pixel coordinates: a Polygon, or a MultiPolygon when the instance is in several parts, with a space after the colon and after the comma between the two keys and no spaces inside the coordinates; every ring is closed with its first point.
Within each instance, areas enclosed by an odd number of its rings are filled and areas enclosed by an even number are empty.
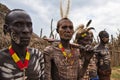
{"type": "Polygon", "coordinates": [[[30,59],[30,53],[28,52],[28,49],[26,49],[26,57],[25,57],[24,63],[20,60],[18,55],[15,53],[12,46],[9,46],[9,53],[20,70],[24,70],[25,68],[28,67],[28,63],[30,59]]]}

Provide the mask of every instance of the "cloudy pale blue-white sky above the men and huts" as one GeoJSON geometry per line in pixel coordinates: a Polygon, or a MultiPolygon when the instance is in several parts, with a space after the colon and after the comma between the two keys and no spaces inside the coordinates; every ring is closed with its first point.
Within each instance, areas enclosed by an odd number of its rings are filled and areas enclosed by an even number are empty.
{"type": "MultiPolygon", "coordinates": [[[[66,8],[67,0],[63,1],[66,8]]],[[[33,21],[33,31],[38,36],[43,29],[43,35],[49,37],[51,20],[53,29],[60,16],[60,0],[0,0],[9,9],[24,9],[33,21]]],[[[106,30],[116,37],[120,30],[120,0],[71,0],[68,18],[73,22],[74,29],[80,24],[86,25],[91,19],[90,27],[94,27],[96,37],[101,30],[106,30]]],[[[56,32],[54,31],[54,34],[56,32]]]]}

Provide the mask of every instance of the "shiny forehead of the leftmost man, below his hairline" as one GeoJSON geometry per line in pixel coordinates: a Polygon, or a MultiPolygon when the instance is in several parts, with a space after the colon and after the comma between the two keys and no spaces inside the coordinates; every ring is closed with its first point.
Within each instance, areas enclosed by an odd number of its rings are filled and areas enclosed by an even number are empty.
{"type": "Polygon", "coordinates": [[[8,14],[10,22],[17,21],[29,21],[31,22],[30,16],[25,11],[13,11],[8,14]]]}

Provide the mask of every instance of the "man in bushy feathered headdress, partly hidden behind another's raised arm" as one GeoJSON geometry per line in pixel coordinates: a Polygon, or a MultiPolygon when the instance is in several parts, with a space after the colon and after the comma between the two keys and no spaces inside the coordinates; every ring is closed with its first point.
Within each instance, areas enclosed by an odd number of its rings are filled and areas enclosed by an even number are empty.
{"type": "MultiPolygon", "coordinates": [[[[75,43],[78,43],[79,45],[82,45],[84,47],[94,47],[92,46],[93,42],[93,32],[91,29],[94,29],[93,27],[88,27],[91,20],[88,22],[87,26],[85,27],[83,24],[79,25],[79,28],[77,28],[77,33],[75,36],[75,43]]],[[[81,51],[81,62],[84,63],[84,56],[85,52],[81,51]]],[[[97,66],[96,66],[97,60],[96,55],[94,54],[93,57],[90,60],[90,64],[88,66],[88,69],[86,73],[84,74],[84,77],[82,80],[98,80],[97,78],[97,66]]],[[[82,66],[82,64],[81,64],[82,66]]]]}

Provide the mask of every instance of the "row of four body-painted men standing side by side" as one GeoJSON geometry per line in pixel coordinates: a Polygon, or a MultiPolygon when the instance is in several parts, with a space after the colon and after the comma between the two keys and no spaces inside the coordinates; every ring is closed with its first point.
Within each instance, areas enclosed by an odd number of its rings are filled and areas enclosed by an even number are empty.
{"type": "Polygon", "coordinates": [[[91,46],[93,34],[89,29],[76,34],[79,35],[76,44],[71,44],[73,23],[69,18],[62,18],[56,28],[60,41],[41,52],[28,47],[33,32],[32,20],[22,9],[7,13],[3,31],[10,35],[11,45],[0,50],[0,80],[93,80],[96,77],[110,80],[110,53],[105,46],[109,34],[106,31],[99,33],[100,44],[95,48],[91,46]]]}

